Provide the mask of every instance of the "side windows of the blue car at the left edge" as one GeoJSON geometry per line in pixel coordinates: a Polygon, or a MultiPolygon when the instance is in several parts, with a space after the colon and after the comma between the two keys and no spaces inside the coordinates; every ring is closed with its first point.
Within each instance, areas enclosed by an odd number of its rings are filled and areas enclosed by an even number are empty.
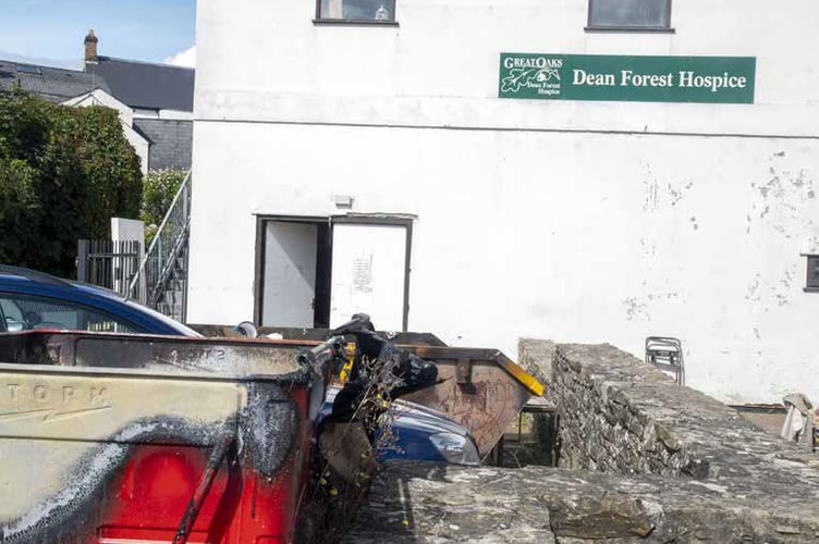
{"type": "Polygon", "coordinates": [[[0,295],[0,307],[5,314],[9,331],[37,329],[65,329],[70,331],[98,331],[137,333],[134,326],[107,313],[80,305],[21,295],[0,295]]]}

